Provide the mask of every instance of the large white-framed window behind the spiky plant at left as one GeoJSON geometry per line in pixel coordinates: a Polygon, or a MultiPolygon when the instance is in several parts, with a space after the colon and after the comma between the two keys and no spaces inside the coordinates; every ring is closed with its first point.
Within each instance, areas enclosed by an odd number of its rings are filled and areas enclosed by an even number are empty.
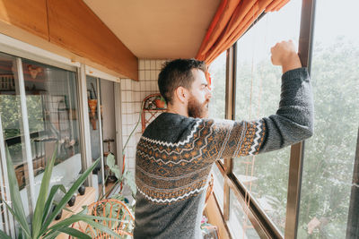
{"type": "Polygon", "coordinates": [[[13,160],[25,213],[30,214],[29,206],[37,201],[45,166],[56,147],[50,184],[71,186],[82,169],[76,73],[6,54],[0,54],[0,65],[4,144],[13,160]],[[31,194],[33,199],[28,198],[31,194]]]}

